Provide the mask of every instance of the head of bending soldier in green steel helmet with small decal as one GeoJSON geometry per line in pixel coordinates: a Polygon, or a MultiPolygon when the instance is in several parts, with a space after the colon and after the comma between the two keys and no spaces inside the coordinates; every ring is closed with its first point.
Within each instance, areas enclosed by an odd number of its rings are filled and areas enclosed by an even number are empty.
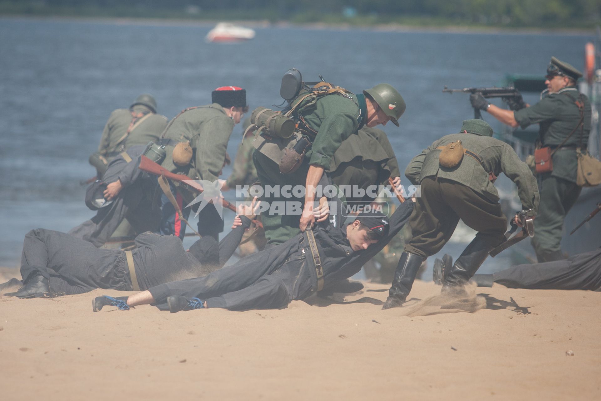
{"type": "Polygon", "coordinates": [[[365,125],[375,127],[386,125],[388,121],[398,127],[398,119],[405,112],[405,101],[398,91],[389,84],[377,84],[363,91],[367,103],[365,125]]]}

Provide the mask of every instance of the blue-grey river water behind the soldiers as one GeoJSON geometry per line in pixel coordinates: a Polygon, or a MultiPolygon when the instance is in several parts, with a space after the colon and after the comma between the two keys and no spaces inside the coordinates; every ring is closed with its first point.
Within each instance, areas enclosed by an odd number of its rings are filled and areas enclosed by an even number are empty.
{"type": "MultiPolygon", "coordinates": [[[[254,40],[224,45],[204,42],[210,28],[0,19],[0,266],[19,265],[23,236],[32,228],[68,231],[93,215],[79,185],[95,173],[88,156],[111,111],[126,108],[140,93],[153,94],[160,114],[172,118],[210,103],[211,91],[222,85],[246,88],[251,109],[279,104],[279,82],[290,67],[307,81],[322,74],[353,92],[388,82],[407,103],[400,127],[383,128],[403,171],[421,149],[472,118],[468,97],[443,94],[444,85],[493,86],[506,73],[543,75],[552,55],[581,69],[584,45],[593,38],[592,32],[269,27],[257,29],[254,40]]],[[[236,126],[228,146],[232,156],[241,133],[236,126]]],[[[226,223],[231,219],[227,215],[226,223]]],[[[439,256],[457,257],[467,240],[469,233],[457,233],[439,256]]],[[[482,271],[507,263],[501,254],[482,271]]]]}

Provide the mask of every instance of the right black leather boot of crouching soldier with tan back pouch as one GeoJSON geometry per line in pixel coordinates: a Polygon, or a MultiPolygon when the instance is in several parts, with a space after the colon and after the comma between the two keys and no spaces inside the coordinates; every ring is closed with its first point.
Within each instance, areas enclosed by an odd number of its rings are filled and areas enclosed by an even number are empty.
{"type": "Polygon", "coordinates": [[[488,242],[479,237],[475,237],[455,261],[453,269],[451,269],[451,272],[442,284],[442,292],[448,292],[450,287],[465,286],[482,263],[484,263],[484,260],[489,256],[489,251],[493,248],[495,246],[489,245],[488,242]]]}

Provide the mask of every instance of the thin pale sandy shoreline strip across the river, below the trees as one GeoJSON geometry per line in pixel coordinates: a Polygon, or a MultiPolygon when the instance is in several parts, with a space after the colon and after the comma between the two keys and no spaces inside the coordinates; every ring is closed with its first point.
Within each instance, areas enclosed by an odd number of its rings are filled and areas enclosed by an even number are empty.
{"type": "Polygon", "coordinates": [[[189,20],[169,18],[130,18],[130,17],[85,17],[85,16],[34,16],[28,14],[0,14],[0,20],[44,20],[44,21],[73,21],[93,22],[114,25],[147,25],[147,26],[206,26],[210,28],[218,22],[231,22],[249,28],[299,28],[299,29],[331,29],[345,31],[359,29],[374,32],[424,32],[424,33],[450,33],[450,34],[545,34],[545,35],[575,35],[594,36],[595,31],[581,28],[514,28],[501,26],[462,26],[462,25],[410,25],[401,23],[379,23],[373,25],[353,26],[351,23],[296,23],[288,21],[270,22],[268,20],[189,20]]]}

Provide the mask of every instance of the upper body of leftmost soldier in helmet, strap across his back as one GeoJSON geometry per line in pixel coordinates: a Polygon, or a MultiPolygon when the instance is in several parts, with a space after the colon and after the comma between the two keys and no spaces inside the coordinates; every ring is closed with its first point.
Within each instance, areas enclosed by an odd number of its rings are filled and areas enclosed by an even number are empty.
{"type": "Polygon", "coordinates": [[[121,152],[157,141],[166,125],[167,118],[156,114],[156,101],[149,94],[138,96],[129,109],[113,111],[106,121],[98,151],[90,156],[97,178],[102,179],[109,162],[121,152]]]}

